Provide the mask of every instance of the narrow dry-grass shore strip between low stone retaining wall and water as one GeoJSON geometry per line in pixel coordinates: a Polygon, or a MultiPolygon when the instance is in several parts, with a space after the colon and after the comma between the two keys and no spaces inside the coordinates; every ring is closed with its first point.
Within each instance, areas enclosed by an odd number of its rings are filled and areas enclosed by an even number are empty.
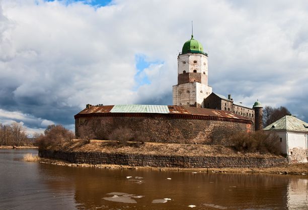
{"type": "Polygon", "coordinates": [[[71,163],[63,160],[52,158],[40,158],[38,161],[45,164],[61,165],[68,167],[94,167],[106,169],[130,169],[130,170],[155,170],[155,171],[179,171],[179,172],[194,172],[194,173],[243,173],[243,174],[280,174],[280,175],[307,175],[308,163],[282,164],[274,167],[264,168],[179,168],[179,167],[150,167],[115,164],[88,164],[88,163],[71,163]]]}

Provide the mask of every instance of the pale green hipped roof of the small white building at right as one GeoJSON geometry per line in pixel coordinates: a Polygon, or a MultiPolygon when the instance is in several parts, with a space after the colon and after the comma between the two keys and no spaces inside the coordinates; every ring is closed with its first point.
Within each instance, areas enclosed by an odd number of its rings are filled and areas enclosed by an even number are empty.
{"type": "Polygon", "coordinates": [[[294,130],[308,132],[308,123],[294,116],[286,115],[265,127],[264,130],[294,130]]]}

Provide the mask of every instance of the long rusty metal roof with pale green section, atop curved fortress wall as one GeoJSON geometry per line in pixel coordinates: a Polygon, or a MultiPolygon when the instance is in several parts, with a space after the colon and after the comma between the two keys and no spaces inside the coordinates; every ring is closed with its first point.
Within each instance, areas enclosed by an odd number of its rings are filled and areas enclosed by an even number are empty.
{"type": "Polygon", "coordinates": [[[161,113],[161,114],[187,114],[199,116],[214,116],[222,118],[232,118],[240,120],[250,119],[235,114],[230,111],[197,108],[190,106],[163,106],[163,105],[110,105],[110,106],[90,106],[78,114],[92,113],[161,113]]]}

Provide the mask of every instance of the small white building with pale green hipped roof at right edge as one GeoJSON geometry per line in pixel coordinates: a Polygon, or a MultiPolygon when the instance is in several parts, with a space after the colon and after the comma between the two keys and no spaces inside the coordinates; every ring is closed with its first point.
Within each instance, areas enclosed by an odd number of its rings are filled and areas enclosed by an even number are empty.
{"type": "Polygon", "coordinates": [[[290,162],[308,162],[308,123],[287,115],[264,130],[279,136],[281,153],[286,154],[290,162]]]}

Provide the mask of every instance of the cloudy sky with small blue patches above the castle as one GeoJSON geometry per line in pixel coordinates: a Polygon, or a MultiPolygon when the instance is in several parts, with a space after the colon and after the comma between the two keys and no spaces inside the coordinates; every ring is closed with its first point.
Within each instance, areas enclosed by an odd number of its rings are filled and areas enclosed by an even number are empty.
{"type": "Polygon", "coordinates": [[[308,122],[307,1],[0,0],[0,123],[74,129],[86,104],[172,104],[177,56],[208,53],[213,92],[308,122]]]}

